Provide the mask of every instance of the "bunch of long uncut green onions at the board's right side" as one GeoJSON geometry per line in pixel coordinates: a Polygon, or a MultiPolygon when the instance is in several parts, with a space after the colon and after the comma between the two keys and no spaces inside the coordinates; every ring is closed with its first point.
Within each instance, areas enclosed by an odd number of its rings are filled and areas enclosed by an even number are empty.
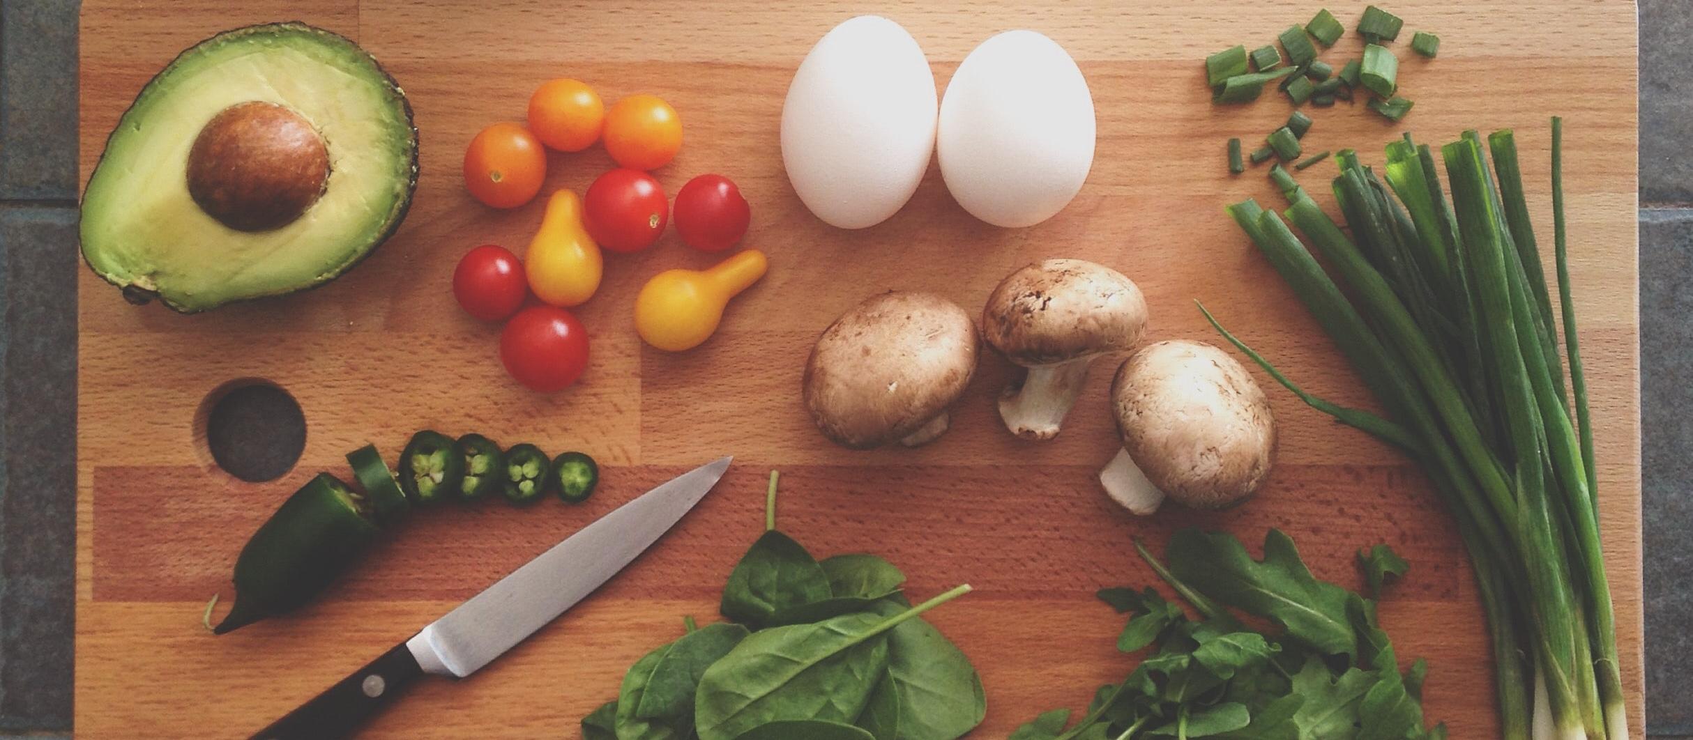
{"type": "Polygon", "coordinates": [[[1353,151],[1336,161],[1341,176],[1332,193],[1348,229],[1285,173],[1278,185],[1288,198],[1287,220],[1251,200],[1227,213],[1385,413],[1307,393],[1200,312],[1312,408],[1424,467],[1470,552],[1493,642],[1505,738],[1629,738],[1569,296],[1563,122],[1552,119],[1559,312],[1510,130],[1485,142],[1466,132],[1439,147],[1446,188],[1436,151],[1409,134],[1388,144],[1385,178],[1353,151]]]}

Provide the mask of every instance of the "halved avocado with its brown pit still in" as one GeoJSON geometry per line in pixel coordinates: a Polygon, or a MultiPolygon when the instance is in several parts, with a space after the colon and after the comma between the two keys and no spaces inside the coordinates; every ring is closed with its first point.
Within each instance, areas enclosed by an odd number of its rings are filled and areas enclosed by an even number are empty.
{"type": "Polygon", "coordinates": [[[88,178],[83,259],[135,303],[183,312],[335,279],[416,190],[405,91],[306,24],[225,30],[135,97],[88,178]]]}

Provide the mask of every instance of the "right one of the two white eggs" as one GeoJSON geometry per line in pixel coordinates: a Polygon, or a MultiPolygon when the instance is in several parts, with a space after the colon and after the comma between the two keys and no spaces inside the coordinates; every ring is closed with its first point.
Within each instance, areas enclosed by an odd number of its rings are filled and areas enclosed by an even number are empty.
{"type": "Polygon", "coordinates": [[[958,64],[936,149],[946,190],[1001,227],[1051,218],[1094,166],[1094,95],[1075,59],[1033,30],[1007,30],[958,64]]]}

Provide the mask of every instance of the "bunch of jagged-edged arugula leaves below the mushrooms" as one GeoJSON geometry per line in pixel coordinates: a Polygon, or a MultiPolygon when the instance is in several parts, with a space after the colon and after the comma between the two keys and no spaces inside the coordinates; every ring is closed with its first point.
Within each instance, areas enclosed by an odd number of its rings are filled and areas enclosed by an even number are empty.
{"type": "Polygon", "coordinates": [[[1170,538],[1168,567],[1134,547],[1199,618],[1153,588],[1102,589],[1133,615],[1117,649],[1151,652],[1121,684],[1100,686],[1075,725],[1067,728],[1070,710],[1053,710],[1011,740],[1446,737],[1444,725],[1422,725],[1427,664],[1402,672],[1376,621],[1381,586],[1407,571],[1387,545],[1358,552],[1371,598],[1319,581],[1280,530],[1265,535],[1263,561],[1229,533],[1194,528],[1170,538]],[[1280,630],[1256,630],[1233,610],[1280,630]]]}

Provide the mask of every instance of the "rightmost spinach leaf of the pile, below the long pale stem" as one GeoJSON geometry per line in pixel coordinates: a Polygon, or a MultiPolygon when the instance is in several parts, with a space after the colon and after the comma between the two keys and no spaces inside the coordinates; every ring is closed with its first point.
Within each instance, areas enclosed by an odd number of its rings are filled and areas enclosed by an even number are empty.
{"type": "MultiPolygon", "coordinates": [[[[897,616],[879,601],[875,611],[897,616]]],[[[858,726],[877,740],[953,740],[987,716],[982,677],[940,630],[913,618],[887,633],[887,672],[870,693],[858,726]]]]}

